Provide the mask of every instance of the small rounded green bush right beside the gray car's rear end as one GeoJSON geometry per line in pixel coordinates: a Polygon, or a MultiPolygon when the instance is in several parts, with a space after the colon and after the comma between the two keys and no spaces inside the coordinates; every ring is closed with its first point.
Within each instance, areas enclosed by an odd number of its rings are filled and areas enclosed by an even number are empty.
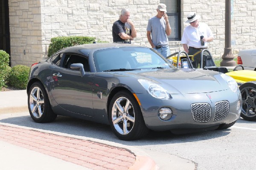
{"type": "Polygon", "coordinates": [[[8,84],[17,89],[26,89],[29,78],[29,66],[17,65],[12,67],[8,76],[8,84]]]}

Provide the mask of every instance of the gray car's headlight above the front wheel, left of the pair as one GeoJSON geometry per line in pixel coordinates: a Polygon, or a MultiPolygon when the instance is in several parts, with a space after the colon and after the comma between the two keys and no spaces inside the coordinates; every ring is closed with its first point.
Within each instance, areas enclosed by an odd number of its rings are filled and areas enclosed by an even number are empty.
{"type": "Polygon", "coordinates": [[[143,79],[139,79],[138,81],[148,91],[148,93],[151,94],[154,98],[165,99],[165,100],[171,98],[171,95],[169,94],[169,92],[167,92],[166,89],[159,86],[158,84],[155,84],[151,81],[147,81],[143,79]]]}

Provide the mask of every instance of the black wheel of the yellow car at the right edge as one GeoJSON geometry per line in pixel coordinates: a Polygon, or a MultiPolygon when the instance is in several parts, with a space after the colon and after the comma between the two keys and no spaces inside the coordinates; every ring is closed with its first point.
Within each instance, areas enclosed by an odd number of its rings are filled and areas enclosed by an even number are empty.
{"type": "Polygon", "coordinates": [[[241,117],[256,121],[256,82],[247,82],[239,87],[242,95],[241,117]]]}

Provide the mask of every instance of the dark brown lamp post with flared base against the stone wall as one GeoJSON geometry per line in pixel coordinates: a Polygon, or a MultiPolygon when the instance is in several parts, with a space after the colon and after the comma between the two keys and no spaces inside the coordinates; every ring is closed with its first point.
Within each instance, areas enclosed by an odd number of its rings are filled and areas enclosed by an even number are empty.
{"type": "Polygon", "coordinates": [[[222,55],[221,66],[236,66],[234,55],[231,51],[231,0],[225,0],[225,48],[222,55]]]}

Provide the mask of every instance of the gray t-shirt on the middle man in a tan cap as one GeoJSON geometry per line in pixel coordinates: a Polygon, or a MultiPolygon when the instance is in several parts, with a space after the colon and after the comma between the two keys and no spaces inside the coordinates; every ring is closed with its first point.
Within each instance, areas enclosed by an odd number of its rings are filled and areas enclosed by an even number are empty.
{"type": "Polygon", "coordinates": [[[166,22],[156,16],[148,20],[147,31],[151,32],[151,38],[155,46],[168,46],[168,37],[166,35],[166,22]]]}

